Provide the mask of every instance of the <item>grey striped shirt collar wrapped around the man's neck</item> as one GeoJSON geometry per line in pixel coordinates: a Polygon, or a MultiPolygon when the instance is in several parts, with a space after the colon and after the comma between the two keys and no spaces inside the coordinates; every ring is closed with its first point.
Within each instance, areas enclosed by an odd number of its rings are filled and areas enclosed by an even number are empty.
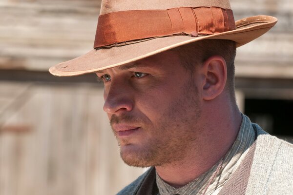
{"type": "Polygon", "coordinates": [[[223,160],[223,163],[216,176],[214,174],[220,161],[208,172],[178,189],[168,185],[156,174],[156,182],[160,195],[201,195],[205,192],[206,188],[208,189],[205,195],[217,195],[246,156],[250,146],[254,142],[254,134],[250,119],[242,115],[242,123],[238,136],[226,156],[220,160],[223,160]]]}

